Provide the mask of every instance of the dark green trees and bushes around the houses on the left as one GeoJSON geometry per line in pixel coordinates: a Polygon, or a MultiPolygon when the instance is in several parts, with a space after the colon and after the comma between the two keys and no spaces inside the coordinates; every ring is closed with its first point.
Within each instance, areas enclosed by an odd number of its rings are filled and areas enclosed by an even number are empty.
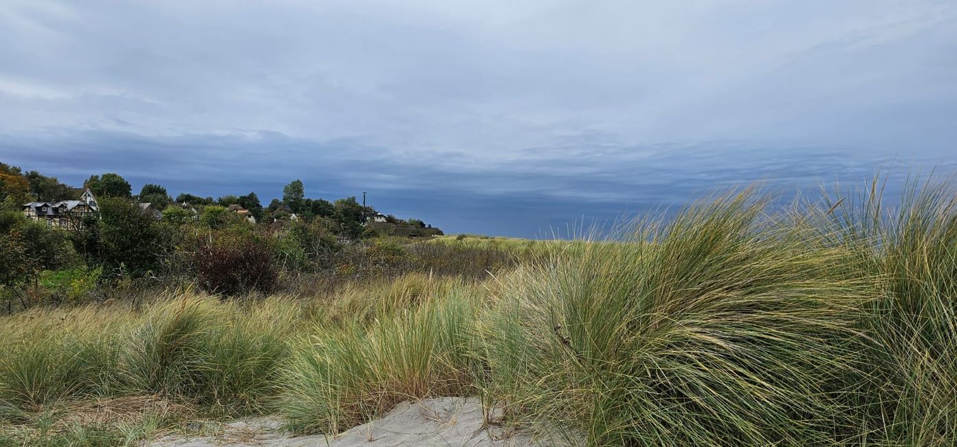
{"type": "Polygon", "coordinates": [[[114,279],[177,279],[214,293],[267,292],[281,272],[329,269],[343,240],[375,235],[363,225],[373,208],[354,196],[306,197],[300,180],[265,207],[254,191],[173,198],[163,186],[146,184],[133,194],[117,173],[91,175],[83,188],[96,196],[98,212],[65,229],[50,227],[28,219],[24,204],[75,200],[82,189],[0,163],[0,298],[7,307],[29,306],[40,299],[32,294],[52,287],[64,289],[63,296],[80,296],[84,284],[114,279]],[[145,211],[142,203],[160,213],[145,211]],[[256,223],[229,210],[231,205],[248,210],[256,223]]]}

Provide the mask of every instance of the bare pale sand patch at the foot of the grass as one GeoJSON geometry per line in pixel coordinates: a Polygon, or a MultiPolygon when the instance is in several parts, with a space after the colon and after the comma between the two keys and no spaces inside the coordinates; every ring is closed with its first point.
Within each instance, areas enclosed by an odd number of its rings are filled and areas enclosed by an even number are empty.
{"type": "MultiPolygon", "coordinates": [[[[387,447],[387,446],[530,446],[574,445],[559,436],[506,432],[484,427],[482,408],[475,397],[438,397],[403,402],[391,412],[335,436],[288,436],[272,418],[234,422],[220,436],[166,436],[153,447],[208,447],[222,445],[387,447]]],[[[577,442],[575,443],[577,444],[577,442]]]]}

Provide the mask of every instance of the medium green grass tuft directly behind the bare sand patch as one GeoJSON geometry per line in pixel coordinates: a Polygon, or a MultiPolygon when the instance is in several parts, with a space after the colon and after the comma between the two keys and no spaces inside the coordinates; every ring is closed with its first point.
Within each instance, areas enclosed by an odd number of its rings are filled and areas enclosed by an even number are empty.
{"type": "Polygon", "coordinates": [[[295,348],[281,413],[299,433],[338,433],[403,400],[468,395],[474,361],[471,291],[454,287],[371,326],[318,325],[295,348]]]}

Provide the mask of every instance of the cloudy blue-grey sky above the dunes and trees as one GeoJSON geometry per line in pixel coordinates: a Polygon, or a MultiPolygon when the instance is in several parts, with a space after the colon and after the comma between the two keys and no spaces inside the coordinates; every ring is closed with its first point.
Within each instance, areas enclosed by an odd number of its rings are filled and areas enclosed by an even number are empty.
{"type": "Polygon", "coordinates": [[[524,237],[957,171],[957,3],[5,0],[0,162],[524,237]]]}

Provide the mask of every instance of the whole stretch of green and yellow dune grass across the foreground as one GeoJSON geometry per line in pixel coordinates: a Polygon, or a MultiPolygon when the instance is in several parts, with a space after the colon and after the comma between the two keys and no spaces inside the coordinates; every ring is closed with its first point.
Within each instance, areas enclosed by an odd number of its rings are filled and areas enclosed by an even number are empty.
{"type": "Polygon", "coordinates": [[[614,242],[430,242],[528,251],[485,280],[33,309],[0,322],[0,445],[256,413],[336,433],[439,395],[595,445],[954,445],[957,191],[904,195],[746,190],[614,242]],[[120,399],[142,405],[76,416],[120,399]]]}

